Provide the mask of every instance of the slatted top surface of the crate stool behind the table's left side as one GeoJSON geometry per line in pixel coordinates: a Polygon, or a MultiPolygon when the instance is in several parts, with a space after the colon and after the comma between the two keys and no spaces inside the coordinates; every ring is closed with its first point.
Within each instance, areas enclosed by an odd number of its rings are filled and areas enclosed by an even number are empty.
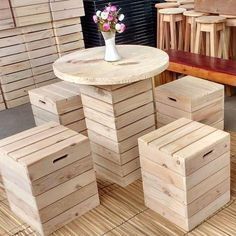
{"type": "Polygon", "coordinates": [[[80,95],[79,86],[66,81],[46,85],[29,91],[30,95],[40,96],[53,102],[63,101],[80,95]]]}

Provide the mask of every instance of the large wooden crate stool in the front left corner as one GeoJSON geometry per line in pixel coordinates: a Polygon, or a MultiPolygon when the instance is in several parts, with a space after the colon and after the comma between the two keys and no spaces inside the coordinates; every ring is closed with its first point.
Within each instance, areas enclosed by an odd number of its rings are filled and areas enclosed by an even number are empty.
{"type": "Polygon", "coordinates": [[[89,139],[49,122],[0,141],[11,210],[49,235],[99,205],[89,139]]]}

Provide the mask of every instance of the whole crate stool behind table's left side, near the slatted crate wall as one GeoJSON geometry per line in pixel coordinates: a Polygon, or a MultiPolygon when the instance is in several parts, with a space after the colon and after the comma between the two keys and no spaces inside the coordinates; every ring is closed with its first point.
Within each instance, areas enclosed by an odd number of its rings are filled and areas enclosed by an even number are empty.
{"type": "Polygon", "coordinates": [[[55,121],[87,135],[79,86],[58,82],[29,91],[36,125],[55,121]]]}

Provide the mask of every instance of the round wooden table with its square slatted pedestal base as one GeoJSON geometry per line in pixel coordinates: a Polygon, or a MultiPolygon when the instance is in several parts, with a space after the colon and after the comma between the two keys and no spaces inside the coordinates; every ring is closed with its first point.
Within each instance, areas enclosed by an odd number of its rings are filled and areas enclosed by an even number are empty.
{"type": "Polygon", "coordinates": [[[155,129],[151,78],[168,67],[168,56],[145,46],[118,51],[122,59],[114,63],[103,60],[104,47],[69,54],[54,72],[80,84],[98,176],[126,186],[141,175],[137,138],[155,129]]]}

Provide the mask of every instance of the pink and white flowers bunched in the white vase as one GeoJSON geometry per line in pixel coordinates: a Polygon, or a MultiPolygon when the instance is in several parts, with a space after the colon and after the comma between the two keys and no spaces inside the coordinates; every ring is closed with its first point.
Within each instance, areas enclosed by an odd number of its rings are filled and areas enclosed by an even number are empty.
{"type": "Polygon", "coordinates": [[[98,28],[102,32],[118,32],[123,33],[126,26],[122,21],[124,20],[124,14],[120,14],[121,8],[109,3],[103,11],[98,10],[96,15],[93,16],[93,20],[98,24],[98,28]]]}

